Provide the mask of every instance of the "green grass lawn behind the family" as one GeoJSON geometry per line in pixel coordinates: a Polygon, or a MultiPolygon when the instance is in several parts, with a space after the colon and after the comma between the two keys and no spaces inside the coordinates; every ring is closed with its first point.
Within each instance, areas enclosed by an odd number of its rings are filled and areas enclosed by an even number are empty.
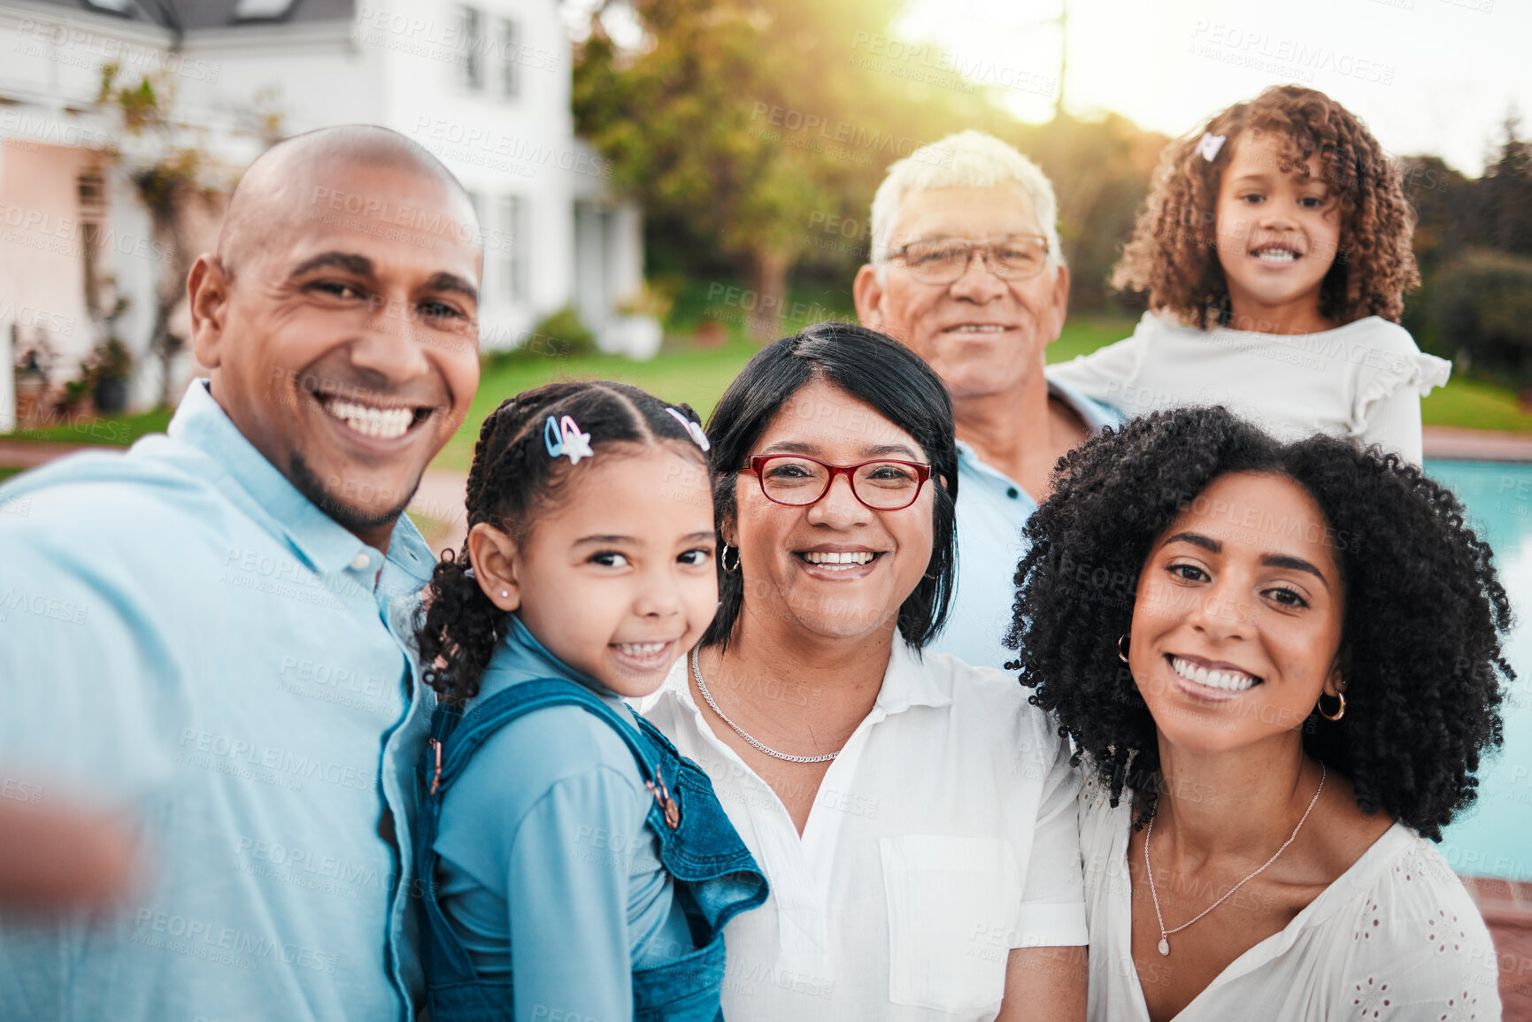
{"type": "MultiPolygon", "coordinates": [[[[758,351],[745,337],[745,314],[726,300],[706,300],[708,285],[688,285],[677,302],[679,319],[715,319],[723,323],[726,340],[719,348],[699,348],[689,340],[666,340],[665,351],[650,362],[630,362],[619,355],[578,355],[570,359],[527,357],[507,362],[496,368],[486,366],[478,395],[469,411],[463,429],[440,455],[435,466],[467,470],[473,458],[473,443],[478,440],[484,417],[507,397],[550,380],[624,380],[640,386],[671,401],[686,401],[703,418],[723,395],[725,388],[740,368],[758,351]],[[729,319],[729,316],[734,319],[729,319]]],[[[791,308],[826,314],[840,310],[844,296],[830,291],[794,290],[791,308]]],[[[673,322],[677,316],[673,316],[673,322]]],[[[780,336],[800,329],[797,319],[774,320],[780,336]]],[[[1075,316],[1063,328],[1063,334],[1048,348],[1048,362],[1063,362],[1079,354],[1095,351],[1102,345],[1120,340],[1132,332],[1134,320],[1124,317],[1075,316]]],[[[1428,426],[1468,426],[1532,434],[1532,415],[1517,408],[1515,392],[1509,388],[1454,377],[1445,388],[1431,392],[1422,401],[1422,415],[1428,426]]],[[[69,421],[49,429],[0,435],[3,440],[51,440],[66,443],[93,443],[127,446],[149,432],[164,431],[170,421],[169,412],[146,412],[110,420],[69,421]]],[[[14,469],[0,469],[0,478],[14,469]]]]}

